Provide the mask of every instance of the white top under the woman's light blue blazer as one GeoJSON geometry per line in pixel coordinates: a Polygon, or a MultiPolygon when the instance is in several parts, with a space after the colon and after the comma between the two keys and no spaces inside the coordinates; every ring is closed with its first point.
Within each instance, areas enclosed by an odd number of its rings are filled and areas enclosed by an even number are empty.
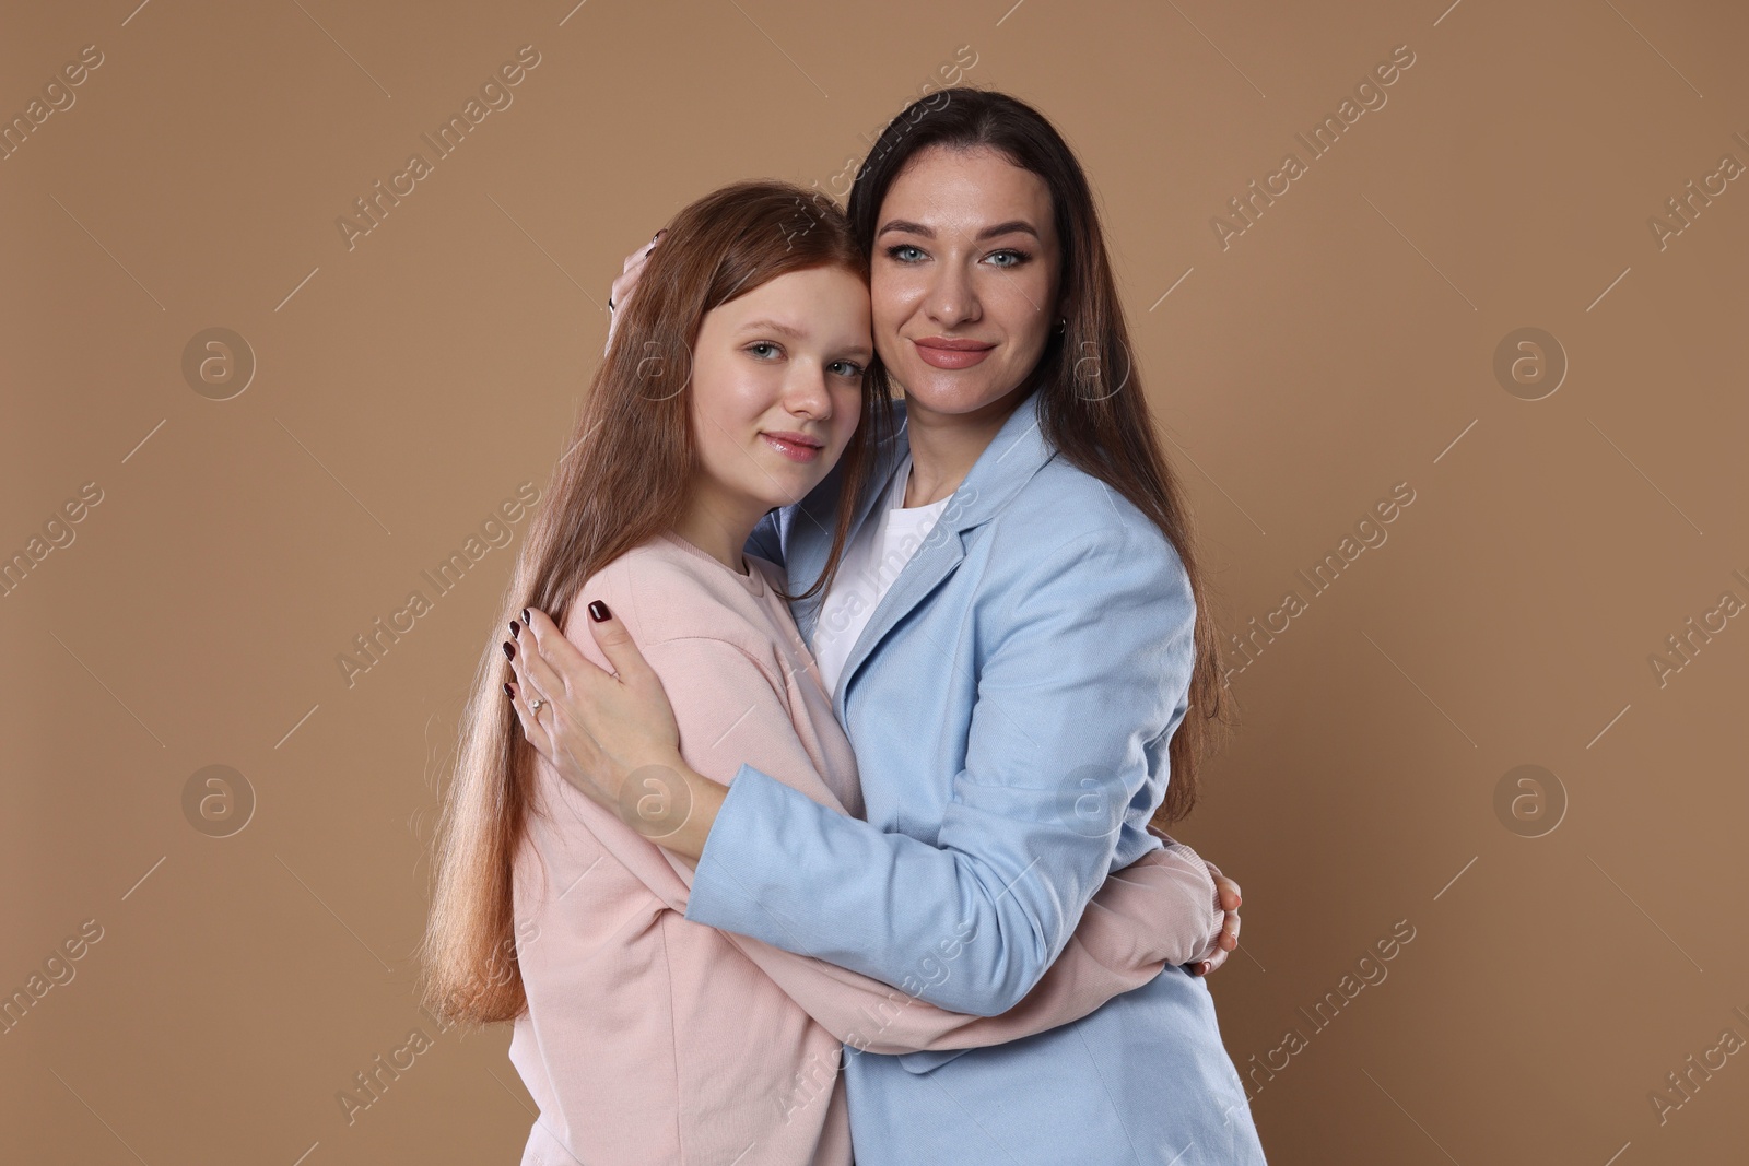
{"type": "Polygon", "coordinates": [[[820,605],[820,621],[813,629],[813,659],[820,668],[820,682],[833,696],[838,696],[838,677],[850,659],[850,649],[855,647],[881,596],[953,500],[953,495],[948,495],[929,505],[906,507],[904,488],[909,481],[911,455],[906,455],[892,475],[885,505],[869,516],[862,530],[845,545],[838,575],[820,605]]]}

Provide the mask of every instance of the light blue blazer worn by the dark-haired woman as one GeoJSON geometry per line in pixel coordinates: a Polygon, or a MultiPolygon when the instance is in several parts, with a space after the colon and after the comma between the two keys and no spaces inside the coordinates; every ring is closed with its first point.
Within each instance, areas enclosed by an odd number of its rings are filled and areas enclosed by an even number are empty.
{"type": "MultiPolygon", "coordinates": [[[[1160,846],[1195,601],[1172,544],[1016,407],[874,608],[836,713],[868,820],[742,766],[686,918],[955,1012],[1011,1009],[1105,876],[1160,846]]],[[[880,451],[857,526],[908,441],[880,451]]],[[[841,477],[747,544],[803,591],[841,477]]],[[[810,645],[819,598],[792,607],[810,645]]],[[[880,1017],[869,1017],[878,1028],[880,1017]]],[[[1263,1163],[1207,984],[1168,967],[1091,1016],[988,1049],[845,1049],[857,1166],[1263,1163]]]]}

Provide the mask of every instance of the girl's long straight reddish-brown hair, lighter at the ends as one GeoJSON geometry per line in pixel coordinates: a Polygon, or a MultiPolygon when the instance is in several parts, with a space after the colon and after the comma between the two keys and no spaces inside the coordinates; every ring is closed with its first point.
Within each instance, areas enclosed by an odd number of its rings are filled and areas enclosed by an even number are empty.
{"type": "MultiPolygon", "coordinates": [[[[535,750],[504,694],[498,643],[521,608],[565,626],[588,579],[686,512],[698,455],[691,427],[693,344],[705,313],[791,271],[843,267],[868,278],[845,213],[784,182],[738,182],[698,199],[666,227],[589,385],[528,524],[516,575],[486,636],[462,718],[456,767],[437,825],[432,907],[420,993],[446,1023],[490,1024],[526,1007],[516,965],[512,864],[533,811],[535,750]]],[[[866,378],[874,381],[876,378],[866,378]]],[[[843,558],[876,442],[892,425],[866,383],[843,475],[827,570],[843,558]]]]}

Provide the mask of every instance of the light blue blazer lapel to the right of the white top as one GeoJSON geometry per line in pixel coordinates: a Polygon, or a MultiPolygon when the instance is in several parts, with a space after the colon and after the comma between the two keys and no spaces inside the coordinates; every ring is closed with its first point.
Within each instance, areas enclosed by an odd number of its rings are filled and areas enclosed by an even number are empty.
{"type": "MultiPolygon", "coordinates": [[[[1034,390],[1009,414],[985,451],[978,455],[978,462],[965,475],[965,481],[953,491],[953,498],[948,502],[946,510],[941,512],[941,519],[930,528],[923,545],[916,549],[916,554],[904,565],[892,587],[887,589],[887,594],[874,607],[874,614],[850,649],[850,657],[845,661],[845,668],[838,678],[833,711],[838,715],[840,724],[845,724],[845,696],[850,692],[850,682],[855,680],[857,670],[880,647],[887,633],[909,615],[911,608],[922,603],[960,565],[960,559],[965,558],[964,533],[999,514],[1002,507],[1013,502],[1020,488],[1055,456],[1056,451],[1049,448],[1039,428],[1041,400],[1042,395],[1034,390]]],[[[909,449],[902,435],[899,444],[909,449]]],[[[902,453],[899,458],[902,458],[902,453]]],[[[887,479],[890,482],[890,474],[887,479]]],[[[881,496],[885,496],[883,491],[881,496]]],[[[869,509],[864,507],[859,528],[862,521],[868,521],[869,509]]],[[[810,582],[815,577],[817,573],[810,577],[810,582]]],[[[810,643],[812,626],[810,621],[810,643]]]]}

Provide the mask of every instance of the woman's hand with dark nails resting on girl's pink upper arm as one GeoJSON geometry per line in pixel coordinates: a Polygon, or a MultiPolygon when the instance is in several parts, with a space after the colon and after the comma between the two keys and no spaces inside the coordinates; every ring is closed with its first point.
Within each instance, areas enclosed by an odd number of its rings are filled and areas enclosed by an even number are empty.
{"type": "Polygon", "coordinates": [[[612,619],[607,605],[591,603],[589,619],[612,673],[579,652],[539,608],[523,610],[523,629],[511,624],[516,642],[505,640],[505,656],[516,671],[511,685],[516,717],[560,776],[645,836],[666,834],[680,823],[649,822],[647,787],[684,785],[687,766],[680,760],[673,708],[631,633],[612,619]],[[539,710],[530,708],[535,699],[539,710]],[[633,774],[637,781],[630,781],[633,774]]]}

